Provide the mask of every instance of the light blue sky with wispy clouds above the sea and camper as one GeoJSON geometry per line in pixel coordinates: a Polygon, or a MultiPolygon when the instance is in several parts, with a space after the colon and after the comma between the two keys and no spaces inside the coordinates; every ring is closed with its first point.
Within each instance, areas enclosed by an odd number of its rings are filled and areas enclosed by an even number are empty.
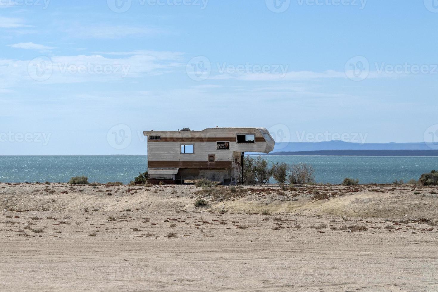
{"type": "Polygon", "coordinates": [[[0,0],[0,155],[215,126],[436,142],[437,24],[436,0],[0,0]]]}

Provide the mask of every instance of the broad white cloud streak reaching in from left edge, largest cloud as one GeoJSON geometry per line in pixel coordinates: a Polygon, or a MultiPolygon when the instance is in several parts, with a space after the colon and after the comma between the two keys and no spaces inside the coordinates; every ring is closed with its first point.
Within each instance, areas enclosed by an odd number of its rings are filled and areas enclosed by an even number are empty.
{"type": "Polygon", "coordinates": [[[33,60],[1,60],[0,89],[37,84],[117,82],[173,72],[180,68],[180,53],[151,52],[118,58],[101,55],[40,56],[33,60]],[[166,57],[164,57],[166,56],[166,57]]]}

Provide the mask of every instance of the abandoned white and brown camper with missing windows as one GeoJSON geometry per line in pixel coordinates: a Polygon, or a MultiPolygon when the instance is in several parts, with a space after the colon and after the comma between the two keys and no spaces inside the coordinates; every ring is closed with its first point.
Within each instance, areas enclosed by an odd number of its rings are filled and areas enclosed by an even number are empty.
{"type": "Polygon", "coordinates": [[[269,153],[274,139],[265,128],[145,131],[150,183],[205,178],[234,185],[244,152],[269,153]]]}

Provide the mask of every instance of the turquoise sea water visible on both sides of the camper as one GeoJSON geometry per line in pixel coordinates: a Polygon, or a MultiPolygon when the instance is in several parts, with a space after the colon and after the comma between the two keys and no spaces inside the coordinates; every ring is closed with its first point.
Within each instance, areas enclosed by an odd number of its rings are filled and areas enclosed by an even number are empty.
{"type": "MultiPolygon", "coordinates": [[[[360,183],[392,183],[418,179],[438,169],[438,157],[394,156],[264,156],[269,162],[313,165],[318,183],[340,183],[345,177],[360,183]]],[[[0,182],[67,182],[71,176],[88,176],[90,182],[129,183],[147,170],[143,155],[0,156],[0,182]]]]}

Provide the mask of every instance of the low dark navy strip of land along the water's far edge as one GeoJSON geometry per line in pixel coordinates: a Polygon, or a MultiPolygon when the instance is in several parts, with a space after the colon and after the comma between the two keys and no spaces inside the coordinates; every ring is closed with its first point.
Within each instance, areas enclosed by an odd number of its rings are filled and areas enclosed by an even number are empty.
{"type": "Polygon", "coordinates": [[[319,156],[438,156],[438,150],[319,150],[283,151],[268,155],[319,155],[319,156]]]}

